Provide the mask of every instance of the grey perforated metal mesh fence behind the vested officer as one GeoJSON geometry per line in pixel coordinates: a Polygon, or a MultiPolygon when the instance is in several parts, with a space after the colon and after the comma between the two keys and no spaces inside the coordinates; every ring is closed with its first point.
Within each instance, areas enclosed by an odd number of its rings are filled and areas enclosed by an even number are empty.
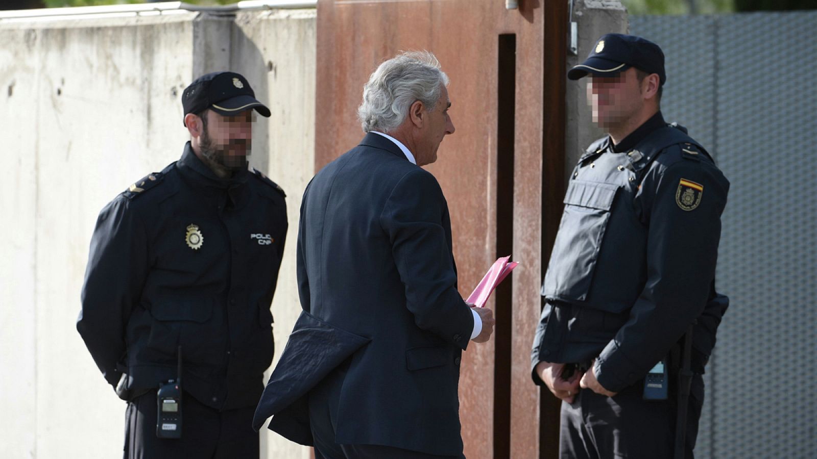
{"type": "Polygon", "coordinates": [[[699,458],[817,457],[815,29],[817,12],[630,18],[667,56],[664,118],[731,181],[699,458]]]}

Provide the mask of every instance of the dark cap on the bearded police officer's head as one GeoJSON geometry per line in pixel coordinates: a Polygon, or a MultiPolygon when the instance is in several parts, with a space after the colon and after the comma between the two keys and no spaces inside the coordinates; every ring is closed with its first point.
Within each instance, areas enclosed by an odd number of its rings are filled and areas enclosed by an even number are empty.
{"type": "Polygon", "coordinates": [[[196,78],[181,93],[185,115],[211,109],[217,114],[232,116],[246,109],[255,109],[270,117],[270,109],[255,98],[247,78],[235,72],[214,72],[196,78]]]}

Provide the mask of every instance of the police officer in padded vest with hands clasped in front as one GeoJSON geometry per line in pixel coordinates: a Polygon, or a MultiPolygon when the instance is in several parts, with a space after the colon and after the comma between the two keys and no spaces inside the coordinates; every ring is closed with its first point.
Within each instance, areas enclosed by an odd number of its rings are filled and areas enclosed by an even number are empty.
{"type": "Polygon", "coordinates": [[[701,374],[729,304],[715,291],[729,181],[683,127],[664,122],[663,61],[653,42],[610,33],[568,73],[589,77],[594,122],[609,136],[570,177],[531,356],[534,382],[563,400],[561,457],[672,457],[680,372],[691,394],[679,443],[692,457],[701,374]],[[648,373],[659,382],[645,385],[648,373]]]}

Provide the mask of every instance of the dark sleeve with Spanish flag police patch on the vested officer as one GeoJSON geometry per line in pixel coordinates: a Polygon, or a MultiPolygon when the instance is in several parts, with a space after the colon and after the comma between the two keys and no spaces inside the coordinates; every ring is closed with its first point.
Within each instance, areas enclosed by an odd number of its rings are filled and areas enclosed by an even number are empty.
{"type": "Polygon", "coordinates": [[[641,190],[636,205],[649,225],[645,287],[627,323],[596,360],[598,381],[613,392],[644,377],[703,312],[728,182],[710,164],[681,160],[669,167],[655,164],[641,190]],[[700,187],[700,196],[687,185],[700,187]],[[682,199],[684,192],[692,197],[682,199]]]}

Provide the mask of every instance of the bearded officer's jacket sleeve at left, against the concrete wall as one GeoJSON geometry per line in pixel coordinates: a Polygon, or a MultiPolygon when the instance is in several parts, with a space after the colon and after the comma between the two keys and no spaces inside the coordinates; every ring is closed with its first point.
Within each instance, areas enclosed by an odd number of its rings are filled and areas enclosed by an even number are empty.
{"type": "Polygon", "coordinates": [[[100,212],[77,319],[96,366],[114,387],[127,352],[127,320],[139,301],[148,265],[145,226],[130,204],[120,195],[100,212]]]}

